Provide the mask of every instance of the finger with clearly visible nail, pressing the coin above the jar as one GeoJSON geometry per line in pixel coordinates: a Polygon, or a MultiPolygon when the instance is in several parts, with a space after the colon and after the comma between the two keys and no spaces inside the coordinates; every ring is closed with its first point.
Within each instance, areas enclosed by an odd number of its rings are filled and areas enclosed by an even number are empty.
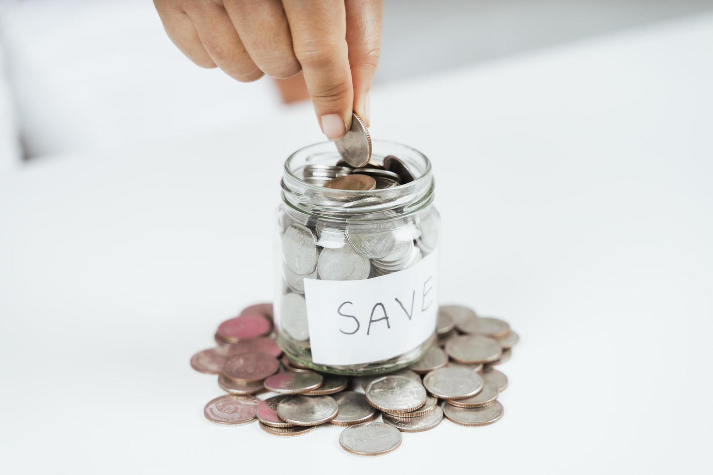
{"type": "Polygon", "coordinates": [[[282,6],[322,132],[331,140],[342,137],[354,103],[344,0],[282,0],[282,6]]]}

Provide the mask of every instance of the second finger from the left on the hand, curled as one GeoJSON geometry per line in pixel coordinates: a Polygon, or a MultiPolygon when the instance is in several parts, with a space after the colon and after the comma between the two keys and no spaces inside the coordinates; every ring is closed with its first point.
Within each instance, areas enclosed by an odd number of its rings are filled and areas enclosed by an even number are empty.
{"type": "Polygon", "coordinates": [[[262,77],[262,71],[245,51],[235,26],[222,6],[210,1],[194,1],[187,4],[186,14],[193,21],[205,51],[227,75],[243,83],[262,77]]]}

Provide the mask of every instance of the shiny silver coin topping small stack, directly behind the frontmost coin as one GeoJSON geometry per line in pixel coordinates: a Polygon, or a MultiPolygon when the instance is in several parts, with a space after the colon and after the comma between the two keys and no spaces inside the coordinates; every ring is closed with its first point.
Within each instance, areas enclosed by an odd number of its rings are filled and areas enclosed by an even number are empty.
{"type": "Polygon", "coordinates": [[[366,386],[366,400],[382,411],[409,412],[426,402],[426,389],[406,376],[383,376],[366,386]]]}

